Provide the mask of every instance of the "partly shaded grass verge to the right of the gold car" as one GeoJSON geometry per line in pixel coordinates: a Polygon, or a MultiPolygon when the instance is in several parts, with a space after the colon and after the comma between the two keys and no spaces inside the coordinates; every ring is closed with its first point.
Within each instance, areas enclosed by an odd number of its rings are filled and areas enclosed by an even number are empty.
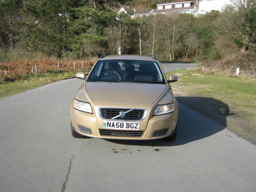
{"type": "Polygon", "coordinates": [[[178,70],[172,83],[177,100],[256,143],[256,80],[178,70]]]}

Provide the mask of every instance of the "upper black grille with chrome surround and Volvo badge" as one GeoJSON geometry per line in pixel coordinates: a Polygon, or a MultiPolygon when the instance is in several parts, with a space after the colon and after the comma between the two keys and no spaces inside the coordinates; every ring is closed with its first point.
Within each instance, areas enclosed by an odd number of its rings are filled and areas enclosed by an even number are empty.
{"type": "Polygon", "coordinates": [[[99,114],[103,119],[112,119],[115,116],[118,116],[120,112],[126,112],[131,110],[130,112],[125,114],[125,117],[117,117],[113,120],[135,120],[140,121],[143,120],[146,116],[145,109],[123,109],[123,108],[100,108],[99,114]]]}

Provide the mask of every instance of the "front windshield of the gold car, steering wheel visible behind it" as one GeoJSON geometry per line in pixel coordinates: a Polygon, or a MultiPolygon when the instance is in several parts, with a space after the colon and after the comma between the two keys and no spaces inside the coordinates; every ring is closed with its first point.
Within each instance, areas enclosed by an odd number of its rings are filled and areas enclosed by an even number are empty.
{"type": "Polygon", "coordinates": [[[87,81],[165,83],[158,63],[143,60],[99,60],[87,81]]]}

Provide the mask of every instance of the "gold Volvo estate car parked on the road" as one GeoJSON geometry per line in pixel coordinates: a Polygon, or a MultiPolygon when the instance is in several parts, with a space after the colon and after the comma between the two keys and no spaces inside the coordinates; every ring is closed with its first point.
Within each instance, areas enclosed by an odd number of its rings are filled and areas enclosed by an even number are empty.
{"type": "Polygon", "coordinates": [[[174,141],[178,103],[154,55],[102,54],[71,102],[75,138],[174,141]],[[152,57],[151,57],[152,56],[152,57]]]}

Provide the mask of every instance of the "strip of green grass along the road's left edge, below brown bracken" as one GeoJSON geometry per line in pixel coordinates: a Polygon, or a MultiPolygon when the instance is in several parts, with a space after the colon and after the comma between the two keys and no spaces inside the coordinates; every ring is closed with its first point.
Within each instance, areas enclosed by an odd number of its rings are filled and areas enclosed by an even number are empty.
{"type": "Polygon", "coordinates": [[[51,82],[73,78],[75,74],[76,71],[59,71],[45,74],[24,74],[19,80],[0,79],[0,98],[34,89],[51,82]]]}

